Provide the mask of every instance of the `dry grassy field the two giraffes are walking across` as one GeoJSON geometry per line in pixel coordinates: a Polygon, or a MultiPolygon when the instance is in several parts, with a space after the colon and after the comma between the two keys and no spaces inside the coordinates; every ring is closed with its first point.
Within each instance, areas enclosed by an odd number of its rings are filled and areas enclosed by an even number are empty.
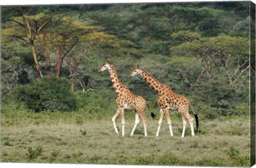
{"type": "MultiPolygon", "coordinates": [[[[133,137],[132,113],[126,116],[125,137],[117,135],[111,117],[84,120],[78,113],[16,111],[1,114],[2,162],[249,166],[249,117],[201,119],[201,130],[181,138],[182,121],[172,116],[174,137],[164,121],[155,137],[158,119],[149,118],[148,137],[140,122],[133,137]]],[[[117,118],[120,131],[120,118],[117,118]]]]}

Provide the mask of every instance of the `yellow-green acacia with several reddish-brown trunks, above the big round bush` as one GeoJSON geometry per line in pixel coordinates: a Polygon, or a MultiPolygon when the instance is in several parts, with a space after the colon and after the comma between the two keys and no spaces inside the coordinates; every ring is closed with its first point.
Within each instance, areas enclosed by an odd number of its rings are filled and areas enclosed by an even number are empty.
{"type": "MultiPolygon", "coordinates": [[[[59,77],[63,60],[76,49],[75,46],[81,43],[83,36],[102,30],[103,28],[100,26],[90,26],[88,22],[79,21],[79,17],[54,15],[51,26],[44,29],[37,38],[46,58],[45,65],[50,67],[51,73],[53,73],[50,59],[52,53],[55,61],[55,75],[59,77]]],[[[90,47],[86,50],[90,50],[90,47]]],[[[49,71],[47,74],[50,75],[49,71]]]]}

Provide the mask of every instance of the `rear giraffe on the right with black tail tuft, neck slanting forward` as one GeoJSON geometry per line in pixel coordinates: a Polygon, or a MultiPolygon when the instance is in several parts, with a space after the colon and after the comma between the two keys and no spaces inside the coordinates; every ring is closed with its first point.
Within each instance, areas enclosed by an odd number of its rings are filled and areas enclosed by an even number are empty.
{"type": "Polygon", "coordinates": [[[137,76],[137,75],[141,75],[146,80],[146,82],[159,95],[158,105],[160,107],[160,118],[159,118],[159,122],[158,122],[156,137],[158,137],[158,135],[159,135],[159,131],[160,131],[160,127],[161,127],[164,115],[167,119],[167,123],[170,128],[170,134],[171,134],[171,136],[173,136],[171,118],[169,115],[169,109],[178,109],[179,113],[181,114],[182,121],[183,121],[183,130],[182,130],[181,137],[184,137],[184,135],[185,135],[185,129],[186,129],[187,122],[189,122],[190,127],[191,127],[191,135],[194,136],[195,135],[194,126],[193,126],[194,118],[191,117],[190,114],[188,113],[189,106],[195,115],[196,130],[198,130],[199,123],[198,123],[197,114],[193,110],[190,101],[183,95],[174,93],[170,86],[159,82],[157,79],[155,79],[149,73],[147,73],[145,70],[140,69],[139,65],[137,65],[137,67],[133,68],[133,71],[129,77],[133,77],[133,76],[137,76]]]}

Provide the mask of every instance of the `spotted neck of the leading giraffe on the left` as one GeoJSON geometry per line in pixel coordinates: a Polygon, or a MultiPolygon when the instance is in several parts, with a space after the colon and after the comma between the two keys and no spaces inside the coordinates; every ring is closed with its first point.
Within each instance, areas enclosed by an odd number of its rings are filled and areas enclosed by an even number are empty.
{"type": "Polygon", "coordinates": [[[108,71],[116,94],[120,94],[122,90],[126,88],[126,86],[119,80],[118,75],[116,73],[116,69],[113,65],[110,67],[108,71]]]}

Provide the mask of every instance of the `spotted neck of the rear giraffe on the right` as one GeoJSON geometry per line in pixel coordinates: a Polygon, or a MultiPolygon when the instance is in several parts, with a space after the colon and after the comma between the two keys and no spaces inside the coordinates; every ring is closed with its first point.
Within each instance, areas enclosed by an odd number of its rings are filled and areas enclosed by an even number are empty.
{"type": "MultiPolygon", "coordinates": [[[[145,70],[141,69],[142,73],[141,76],[146,80],[146,82],[157,92],[157,94],[160,94],[162,89],[166,87],[167,85],[159,82],[156,78],[151,76],[149,73],[147,73],[145,70]]],[[[171,87],[170,87],[171,89],[171,87]]]]}

